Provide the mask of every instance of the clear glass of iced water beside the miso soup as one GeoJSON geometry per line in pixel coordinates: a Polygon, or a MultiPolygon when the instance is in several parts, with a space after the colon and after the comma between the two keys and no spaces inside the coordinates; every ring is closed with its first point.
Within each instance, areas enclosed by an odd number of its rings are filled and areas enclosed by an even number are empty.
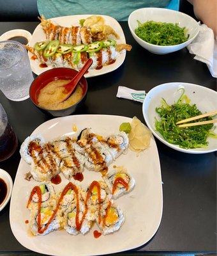
{"type": "Polygon", "coordinates": [[[0,90],[10,100],[25,100],[33,73],[24,45],[15,41],[0,42],[0,90]]]}

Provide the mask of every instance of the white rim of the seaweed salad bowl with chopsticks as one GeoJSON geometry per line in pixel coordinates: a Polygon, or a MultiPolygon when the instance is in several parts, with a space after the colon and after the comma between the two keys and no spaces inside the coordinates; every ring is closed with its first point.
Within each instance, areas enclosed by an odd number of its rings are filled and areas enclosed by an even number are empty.
{"type": "Polygon", "coordinates": [[[210,149],[210,150],[195,150],[195,148],[192,148],[192,149],[186,149],[186,148],[181,148],[179,147],[178,145],[175,145],[175,144],[172,144],[172,143],[168,143],[166,140],[164,140],[163,138],[161,138],[161,136],[153,129],[153,127],[151,126],[151,124],[149,124],[149,119],[147,118],[147,115],[146,115],[146,112],[144,111],[144,106],[146,104],[146,100],[148,99],[148,96],[149,96],[149,93],[153,92],[154,90],[156,90],[157,88],[160,88],[161,86],[171,86],[171,84],[177,84],[177,85],[183,85],[183,86],[188,86],[188,85],[193,85],[195,86],[196,88],[203,88],[203,90],[206,90],[206,91],[211,91],[213,93],[216,93],[216,97],[217,97],[217,92],[215,92],[214,90],[210,89],[210,88],[207,88],[207,87],[204,87],[204,86],[201,86],[199,84],[192,84],[192,83],[184,83],[184,82],[171,82],[171,83],[164,83],[164,84],[159,84],[157,86],[154,86],[154,88],[152,88],[147,94],[146,94],[146,97],[144,99],[144,102],[142,104],[142,114],[144,116],[144,119],[146,121],[146,125],[147,127],[149,127],[149,129],[151,130],[151,132],[153,133],[153,135],[158,139],[160,140],[163,144],[167,145],[168,147],[170,148],[173,148],[177,151],[180,151],[180,152],[183,152],[183,153],[188,153],[188,154],[207,154],[207,153],[211,153],[211,152],[215,152],[217,149],[210,149]]]}

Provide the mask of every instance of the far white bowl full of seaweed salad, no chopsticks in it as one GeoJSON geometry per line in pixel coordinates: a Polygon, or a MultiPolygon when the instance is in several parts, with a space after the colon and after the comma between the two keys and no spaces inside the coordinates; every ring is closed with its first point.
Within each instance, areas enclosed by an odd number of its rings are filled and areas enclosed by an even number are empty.
{"type": "Polygon", "coordinates": [[[197,21],[182,12],[141,8],[132,12],[128,26],[133,38],[147,51],[167,54],[179,51],[197,36],[197,21]]]}

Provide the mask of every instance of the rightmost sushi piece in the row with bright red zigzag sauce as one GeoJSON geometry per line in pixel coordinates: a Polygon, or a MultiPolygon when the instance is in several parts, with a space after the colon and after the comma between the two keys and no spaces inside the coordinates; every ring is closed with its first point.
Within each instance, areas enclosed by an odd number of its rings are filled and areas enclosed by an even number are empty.
{"type": "Polygon", "coordinates": [[[129,193],[135,186],[135,179],[126,170],[113,170],[103,177],[114,199],[129,193]]]}

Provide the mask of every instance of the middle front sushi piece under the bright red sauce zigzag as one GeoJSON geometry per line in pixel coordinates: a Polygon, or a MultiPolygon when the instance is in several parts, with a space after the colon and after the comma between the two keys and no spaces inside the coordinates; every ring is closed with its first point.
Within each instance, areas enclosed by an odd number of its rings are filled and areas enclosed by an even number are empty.
{"type": "Polygon", "coordinates": [[[87,220],[86,218],[82,218],[85,212],[85,205],[82,200],[79,200],[79,209],[77,209],[77,204],[71,205],[69,211],[66,211],[65,218],[66,218],[66,225],[64,226],[64,229],[68,234],[77,236],[77,234],[86,234],[91,226],[92,221],[87,220]],[[78,221],[76,221],[76,216],[78,214],[78,221]]]}

